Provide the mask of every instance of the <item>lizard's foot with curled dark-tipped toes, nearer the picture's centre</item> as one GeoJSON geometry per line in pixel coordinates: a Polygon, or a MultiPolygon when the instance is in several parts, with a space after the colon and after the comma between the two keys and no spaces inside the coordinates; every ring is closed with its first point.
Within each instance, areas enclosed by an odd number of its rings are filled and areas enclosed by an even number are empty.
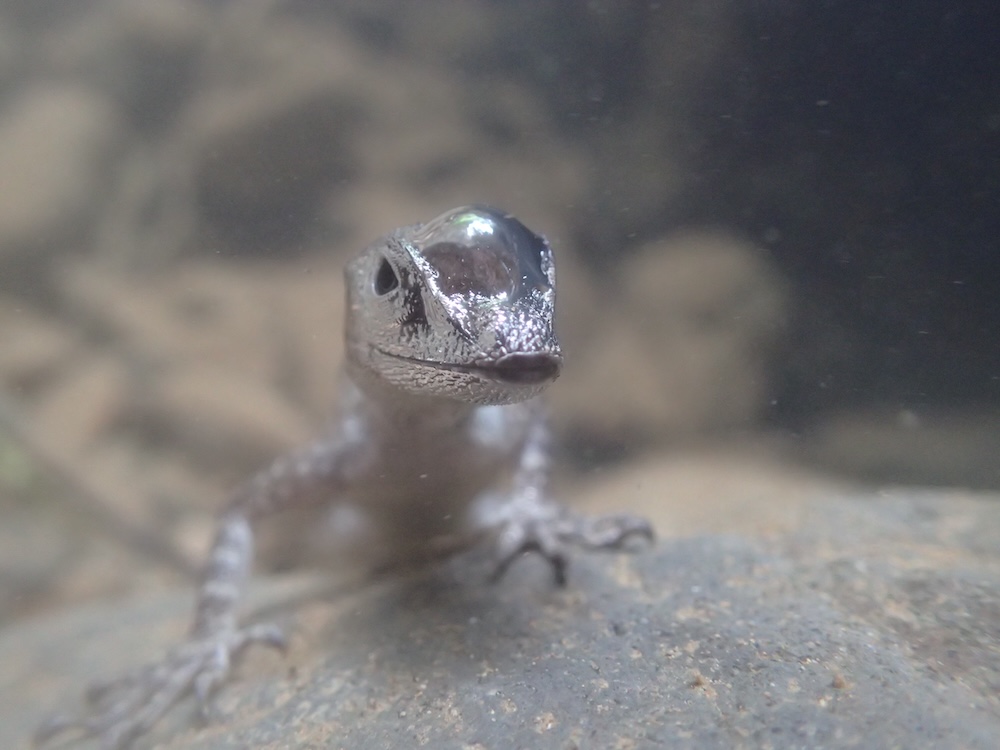
{"type": "Polygon", "coordinates": [[[633,537],[653,541],[655,534],[649,521],[629,515],[590,518],[568,513],[511,520],[496,542],[493,581],[502,578],[521,554],[537,552],[552,566],[556,585],[565,586],[570,547],[616,550],[633,537]]]}

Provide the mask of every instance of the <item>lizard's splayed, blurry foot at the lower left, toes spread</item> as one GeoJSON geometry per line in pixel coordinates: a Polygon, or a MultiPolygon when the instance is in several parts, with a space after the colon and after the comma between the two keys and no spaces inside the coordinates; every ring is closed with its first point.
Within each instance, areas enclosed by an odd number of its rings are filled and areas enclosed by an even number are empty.
{"type": "Polygon", "coordinates": [[[75,731],[80,739],[100,739],[106,750],[126,748],[192,691],[202,718],[207,718],[213,693],[226,681],[247,646],[253,643],[279,650],[285,648],[284,635],[274,625],[251,625],[187,641],[171,650],[158,664],[91,686],[86,693],[86,715],[49,719],[36,733],[35,745],[75,731]]]}

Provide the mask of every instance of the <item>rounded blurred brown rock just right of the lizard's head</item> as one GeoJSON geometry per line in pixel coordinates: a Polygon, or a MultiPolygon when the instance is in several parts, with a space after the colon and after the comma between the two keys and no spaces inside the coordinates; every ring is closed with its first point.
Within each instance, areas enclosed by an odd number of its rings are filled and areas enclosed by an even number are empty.
{"type": "Polygon", "coordinates": [[[647,245],[603,284],[573,273],[560,290],[576,311],[562,327],[568,364],[552,389],[564,432],[634,447],[760,417],[788,303],[752,246],[690,232],[647,245]]]}

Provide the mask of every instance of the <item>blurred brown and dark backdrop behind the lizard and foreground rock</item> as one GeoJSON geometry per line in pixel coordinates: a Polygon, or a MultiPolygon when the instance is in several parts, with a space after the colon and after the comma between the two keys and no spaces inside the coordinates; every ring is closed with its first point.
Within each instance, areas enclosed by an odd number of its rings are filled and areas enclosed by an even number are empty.
{"type": "Polygon", "coordinates": [[[556,248],[567,500],[1000,487],[995,15],[0,3],[0,621],[188,576],[334,416],[345,259],[472,202],[556,248]]]}

